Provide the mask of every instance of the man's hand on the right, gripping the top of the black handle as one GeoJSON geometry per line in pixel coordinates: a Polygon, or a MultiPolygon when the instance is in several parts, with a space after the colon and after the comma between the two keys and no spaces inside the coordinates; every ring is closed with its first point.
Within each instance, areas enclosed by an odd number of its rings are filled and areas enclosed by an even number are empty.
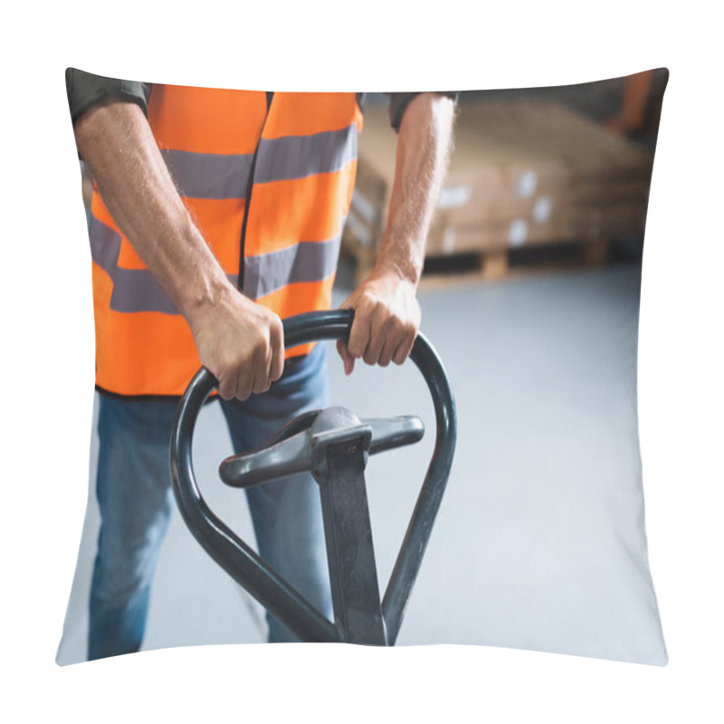
{"type": "Polygon", "coordinates": [[[337,351],[352,373],[355,359],[367,365],[402,365],[420,329],[420,305],[416,285],[395,271],[373,271],[341,305],[355,310],[349,341],[339,340],[337,351]]]}

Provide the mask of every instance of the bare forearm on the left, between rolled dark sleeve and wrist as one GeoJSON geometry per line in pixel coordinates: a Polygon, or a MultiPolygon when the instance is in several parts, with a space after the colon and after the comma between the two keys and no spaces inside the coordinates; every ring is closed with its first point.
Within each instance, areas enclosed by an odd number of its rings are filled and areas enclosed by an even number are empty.
{"type": "Polygon", "coordinates": [[[97,106],[78,119],[75,138],[110,214],[193,328],[231,285],[181,201],[142,110],[124,101],[97,106]]]}

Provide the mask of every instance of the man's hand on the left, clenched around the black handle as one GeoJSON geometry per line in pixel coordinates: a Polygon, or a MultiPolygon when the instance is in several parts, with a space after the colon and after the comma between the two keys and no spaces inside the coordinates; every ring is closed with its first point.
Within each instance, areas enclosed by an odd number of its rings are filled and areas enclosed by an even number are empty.
{"type": "Polygon", "coordinates": [[[233,287],[188,321],[201,364],[219,381],[224,400],[265,392],[281,377],[281,319],[233,287]]]}

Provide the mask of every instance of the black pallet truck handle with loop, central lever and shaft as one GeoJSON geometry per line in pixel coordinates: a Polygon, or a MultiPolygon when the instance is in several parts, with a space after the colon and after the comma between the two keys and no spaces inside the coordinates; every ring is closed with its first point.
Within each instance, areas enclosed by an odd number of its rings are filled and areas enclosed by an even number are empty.
{"type": "MultiPolygon", "coordinates": [[[[348,338],[354,312],[312,312],[285,319],[287,348],[348,338]]],[[[222,480],[235,488],[310,471],[319,483],[329,561],[334,622],[279,576],[208,508],[196,485],[191,456],[196,417],[217,380],[201,368],[176,411],[171,474],[186,525],[206,552],[271,614],[304,642],[391,646],[405,615],[433,521],[443,498],[457,423],[450,382],[440,357],[419,334],[410,358],[433,397],[437,436],[433,457],[384,597],[380,598],[364,470],[367,457],[417,442],[424,426],[415,416],[360,420],[343,407],[301,414],[266,445],[222,462],[222,480]]]]}

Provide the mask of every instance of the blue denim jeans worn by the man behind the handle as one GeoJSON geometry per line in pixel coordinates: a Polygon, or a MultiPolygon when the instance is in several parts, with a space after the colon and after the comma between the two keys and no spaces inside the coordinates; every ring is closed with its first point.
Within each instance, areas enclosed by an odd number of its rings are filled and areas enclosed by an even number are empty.
{"type": "MultiPolygon", "coordinates": [[[[292,417],[329,405],[327,350],[288,360],[263,395],[220,400],[234,452],[265,443],[292,417]]],[[[138,651],[158,551],[174,506],[168,448],[176,402],[100,395],[96,492],[98,552],[90,587],[88,658],[138,651]]],[[[331,611],[319,489],[309,473],[246,491],[259,554],[316,605],[331,611]]],[[[297,641],[267,614],[269,641],[297,641]]]]}

